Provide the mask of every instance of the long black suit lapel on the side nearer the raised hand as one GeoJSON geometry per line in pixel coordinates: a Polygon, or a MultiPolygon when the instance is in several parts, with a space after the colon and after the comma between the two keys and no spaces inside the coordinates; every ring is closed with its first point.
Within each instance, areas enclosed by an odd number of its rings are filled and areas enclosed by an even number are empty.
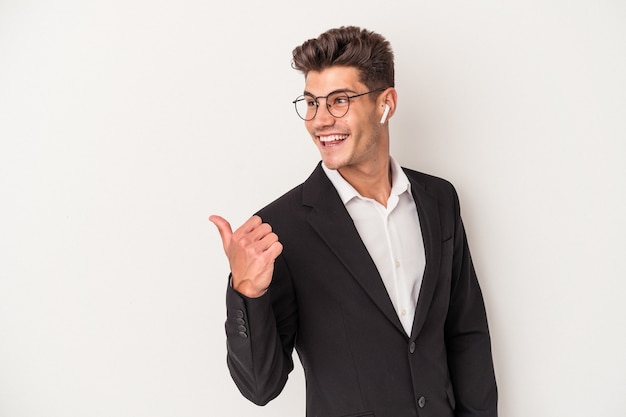
{"type": "Polygon", "coordinates": [[[383,314],[404,333],[378,269],[352,218],[321,164],[304,183],[303,204],[312,207],[308,221],[383,314]]]}

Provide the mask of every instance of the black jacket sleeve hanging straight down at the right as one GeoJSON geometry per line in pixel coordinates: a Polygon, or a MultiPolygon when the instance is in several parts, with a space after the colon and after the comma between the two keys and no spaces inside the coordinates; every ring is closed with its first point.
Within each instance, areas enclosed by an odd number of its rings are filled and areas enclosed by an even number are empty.
{"type": "Polygon", "coordinates": [[[482,293],[454,197],[454,254],[445,325],[456,417],[497,417],[497,388],[482,293]]]}

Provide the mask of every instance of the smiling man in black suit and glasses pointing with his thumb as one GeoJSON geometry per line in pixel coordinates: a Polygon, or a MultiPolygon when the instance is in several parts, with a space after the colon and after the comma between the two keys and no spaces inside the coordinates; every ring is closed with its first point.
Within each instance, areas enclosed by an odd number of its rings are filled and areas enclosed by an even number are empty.
{"type": "Polygon", "coordinates": [[[497,416],[487,319],[454,188],[389,154],[393,52],[341,27],[293,51],[322,161],[235,232],[228,367],[263,405],[298,352],[307,416],[497,416]]]}

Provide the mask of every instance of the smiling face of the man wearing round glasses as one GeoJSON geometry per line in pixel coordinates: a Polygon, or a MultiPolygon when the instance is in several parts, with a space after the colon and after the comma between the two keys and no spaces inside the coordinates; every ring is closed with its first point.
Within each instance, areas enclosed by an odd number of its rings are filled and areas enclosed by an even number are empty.
{"type": "MultiPolygon", "coordinates": [[[[311,71],[306,77],[305,92],[319,97],[336,90],[346,90],[350,96],[369,91],[358,75],[352,67],[311,71]]],[[[328,168],[367,172],[375,164],[388,161],[388,131],[379,122],[384,110],[380,96],[373,93],[350,99],[348,113],[340,118],[328,112],[326,99],[319,99],[317,115],[305,126],[328,168]]]]}

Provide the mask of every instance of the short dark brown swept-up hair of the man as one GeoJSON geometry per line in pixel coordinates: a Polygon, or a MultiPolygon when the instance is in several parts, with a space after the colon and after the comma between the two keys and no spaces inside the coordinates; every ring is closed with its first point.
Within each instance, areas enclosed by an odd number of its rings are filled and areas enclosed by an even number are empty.
{"type": "Polygon", "coordinates": [[[382,35],[356,26],[330,29],[293,50],[292,67],[304,74],[332,66],[354,67],[368,88],[394,87],[391,44],[382,35]]]}

